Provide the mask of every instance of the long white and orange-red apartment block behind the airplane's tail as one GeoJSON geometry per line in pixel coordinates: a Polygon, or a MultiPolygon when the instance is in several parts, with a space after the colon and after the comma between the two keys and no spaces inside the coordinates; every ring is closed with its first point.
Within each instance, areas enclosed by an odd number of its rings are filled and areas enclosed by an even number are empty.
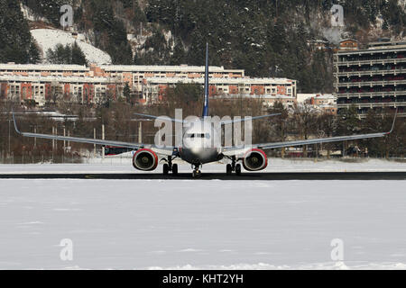
{"type": "MultiPolygon", "coordinates": [[[[121,95],[129,85],[140,103],[163,99],[166,88],[179,83],[204,84],[205,67],[0,64],[0,96],[43,105],[54,94],[97,102],[101,95],[121,95]],[[86,93],[85,93],[86,92],[86,93]]],[[[296,81],[286,78],[250,78],[242,69],[209,67],[210,95],[270,95],[296,97],[296,81]]]]}

